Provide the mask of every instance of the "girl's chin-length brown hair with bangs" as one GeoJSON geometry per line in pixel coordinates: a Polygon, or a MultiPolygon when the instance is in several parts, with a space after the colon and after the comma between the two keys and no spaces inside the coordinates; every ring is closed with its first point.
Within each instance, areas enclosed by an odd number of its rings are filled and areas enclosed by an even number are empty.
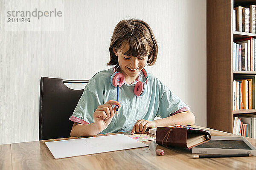
{"type": "Polygon", "coordinates": [[[114,29],[110,46],[110,60],[107,65],[118,64],[117,56],[113,48],[118,51],[123,44],[128,43],[129,50],[125,52],[127,56],[145,57],[148,55],[148,65],[154,65],[157,60],[157,41],[151,28],[142,20],[122,20],[114,29]]]}

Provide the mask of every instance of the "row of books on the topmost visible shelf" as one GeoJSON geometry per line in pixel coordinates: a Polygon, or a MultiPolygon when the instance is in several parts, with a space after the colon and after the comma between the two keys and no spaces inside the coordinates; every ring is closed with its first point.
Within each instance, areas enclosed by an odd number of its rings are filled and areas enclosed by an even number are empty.
{"type": "Polygon", "coordinates": [[[256,34],[256,5],[238,6],[233,9],[233,16],[233,31],[256,34]]]}

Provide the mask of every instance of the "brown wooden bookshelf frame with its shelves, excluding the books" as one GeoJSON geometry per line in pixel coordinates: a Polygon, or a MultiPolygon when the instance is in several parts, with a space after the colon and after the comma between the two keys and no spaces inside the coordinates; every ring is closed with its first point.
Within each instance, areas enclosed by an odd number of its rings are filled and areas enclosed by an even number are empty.
{"type": "MultiPolygon", "coordinates": [[[[256,71],[233,71],[233,40],[256,34],[233,31],[233,9],[256,0],[207,0],[207,127],[232,133],[233,115],[256,113],[233,111],[233,77],[256,71]]],[[[234,16],[235,17],[235,16],[234,16]]]]}

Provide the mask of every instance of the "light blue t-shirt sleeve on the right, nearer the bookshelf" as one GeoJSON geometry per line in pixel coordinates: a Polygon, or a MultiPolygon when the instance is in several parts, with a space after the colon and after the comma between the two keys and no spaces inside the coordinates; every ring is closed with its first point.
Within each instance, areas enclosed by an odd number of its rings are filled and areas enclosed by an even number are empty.
{"type": "Polygon", "coordinates": [[[189,109],[190,108],[178,96],[173,94],[169,88],[166,86],[164,87],[157,115],[160,115],[162,118],[166,118],[176,113],[188,111],[189,109]]]}

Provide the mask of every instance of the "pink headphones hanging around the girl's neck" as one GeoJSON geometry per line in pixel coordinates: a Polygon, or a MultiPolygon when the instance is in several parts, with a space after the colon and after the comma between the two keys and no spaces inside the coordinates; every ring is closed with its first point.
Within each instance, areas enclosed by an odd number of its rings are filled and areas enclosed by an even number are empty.
{"type": "MultiPolygon", "coordinates": [[[[119,85],[119,87],[121,87],[125,82],[125,76],[122,73],[116,71],[116,69],[118,67],[119,67],[119,65],[115,66],[113,74],[110,78],[111,84],[115,87],[117,87],[117,85],[119,85]]],[[[145,82],[138,81],[136,83],[136,85],[134,86],[134,94],[136,96],[143,96],[147,91],[148,74],[147,74],[147,71],[145,70],[145,68],[142,69],[142,73],[143,73],[146,81],[145,82]]]]}

